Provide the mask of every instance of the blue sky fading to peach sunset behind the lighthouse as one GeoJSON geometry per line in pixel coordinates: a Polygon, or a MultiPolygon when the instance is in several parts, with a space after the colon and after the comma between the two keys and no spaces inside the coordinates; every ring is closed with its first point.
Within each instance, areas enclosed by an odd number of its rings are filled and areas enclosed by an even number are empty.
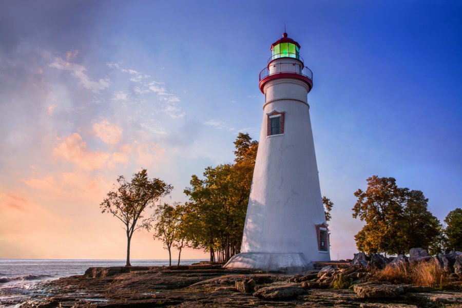
{"type": "MultiPolygon", "coordinates": [[[[140,168],[184,202],[191,175],[258,139],[258,74],[284,32],[313,71],[331,257],[351,258],[368,177],[462,207],[462,3],[0,1],[0,258],[125,258],[99,204],[140,168]]],[[[176,253],[173,254],[176,256],[176,253]]],[[[207,258],[187,249],[184,258],[207,258]]],[[[146,231],[132,259],[166,259],[146,231]]]]}

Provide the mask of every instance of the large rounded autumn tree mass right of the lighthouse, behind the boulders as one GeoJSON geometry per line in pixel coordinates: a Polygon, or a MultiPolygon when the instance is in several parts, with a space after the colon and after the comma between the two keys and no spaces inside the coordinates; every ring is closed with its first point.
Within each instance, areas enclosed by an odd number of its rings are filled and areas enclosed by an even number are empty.
{"type": "Polygon", "coordinates": [[[359,251],[402,254],[412,247],[438,251],[441,224],[427,209],[420,190],[400,188],[394,178],[373,176],[358,189],[353,217],[365,222],[355,236],[359,251]]]}

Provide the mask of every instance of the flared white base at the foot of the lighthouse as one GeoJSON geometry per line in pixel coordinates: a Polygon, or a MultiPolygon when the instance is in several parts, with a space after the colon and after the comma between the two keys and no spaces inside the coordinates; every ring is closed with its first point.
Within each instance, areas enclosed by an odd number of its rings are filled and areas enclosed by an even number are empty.
{"type": "Polygon", "coordinates": [[[313,269],[313,264],[305,262],[301,253],[240,253],[229,259],[224,267],[298,273],[313,269]]]}

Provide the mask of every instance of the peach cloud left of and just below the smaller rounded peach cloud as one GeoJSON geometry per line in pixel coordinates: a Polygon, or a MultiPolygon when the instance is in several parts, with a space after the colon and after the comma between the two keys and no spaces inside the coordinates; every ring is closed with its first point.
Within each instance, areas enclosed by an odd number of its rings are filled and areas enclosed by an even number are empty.
{"type": "Polygon", "coordinates": [[[107,152],[91,152],[80,134],[74,132],[53,149],[53,155],[85,170],[101,169],[110,158],[107,152]]]}

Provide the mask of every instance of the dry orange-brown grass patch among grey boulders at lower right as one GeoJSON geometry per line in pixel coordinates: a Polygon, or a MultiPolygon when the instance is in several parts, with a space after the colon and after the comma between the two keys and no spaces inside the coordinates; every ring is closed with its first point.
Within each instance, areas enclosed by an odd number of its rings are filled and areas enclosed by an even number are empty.
{"type": "Polygon", "coordinates": [[[384,269],[373,273],[373,277],[391,283],[408,283],[413,285],[430,286],[439,290],[451,286],[449,274],[434,261],[419,262],[413,266],[400,264],[387,265],[384,269]]]}

